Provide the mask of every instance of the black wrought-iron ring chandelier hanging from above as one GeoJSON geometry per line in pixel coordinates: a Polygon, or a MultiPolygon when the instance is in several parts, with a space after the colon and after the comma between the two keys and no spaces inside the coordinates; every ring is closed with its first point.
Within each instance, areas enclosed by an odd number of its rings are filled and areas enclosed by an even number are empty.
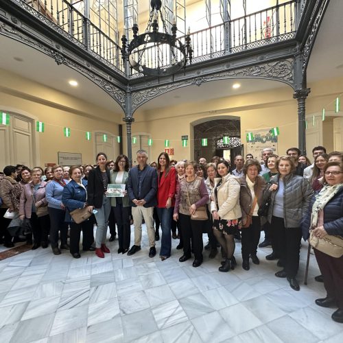
{"type": "Polygon", "coordinates": [[[150,76],[174,75],[191,64],[193,50],[190,30],[185,36],[185,44],[176,38],[176,21],[171,25],[171,34],[161,12],[161,0],[151,0],[150,18],[143,34],[138,34],[138,25],[132,26],[133,38],[128,43],[125,30],[121,37],[121,56],[130,62],[130,67],[139,73],[150,76]],[[161,19],[163,32],[158,32],[158,19],[161,19]]]}

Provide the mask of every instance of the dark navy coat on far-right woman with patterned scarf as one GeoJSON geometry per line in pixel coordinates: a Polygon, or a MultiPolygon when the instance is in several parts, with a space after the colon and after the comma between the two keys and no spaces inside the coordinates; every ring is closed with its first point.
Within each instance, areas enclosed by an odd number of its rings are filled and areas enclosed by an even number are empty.
{"type": "MultiPolygon", "coordinates": [[[[309,211],[303,221],[303,237],[309,237],[309,226],[311,224],[311,211],[316,200],[316,195],[311,198],[309,211]]],[[[343,236],[343,187],[324,206],[324,229],[329,235],[343,236]]]]}

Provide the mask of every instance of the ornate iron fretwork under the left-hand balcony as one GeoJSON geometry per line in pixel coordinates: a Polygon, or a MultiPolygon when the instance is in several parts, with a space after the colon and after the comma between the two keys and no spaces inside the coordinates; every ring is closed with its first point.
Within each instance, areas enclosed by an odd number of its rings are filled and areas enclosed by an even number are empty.
{"type": "MultiPolygon", "coordinates": [[[[11,20],[14,23],[14,17],[12,16],[11,20]]],[[[19,27],[22,27],[21,21],[19,19],[16,19],[16,23],[19,27]]],[[[43,39],[38,40],[36,37],[32,37],[29,34],[23,33],[22,29],[17,29],[14,26],[10,26],[3,21],[0,20],[0,34],[3,34],[4,36],[7,36],[8,38],[12,38],[14,40],[19,41],[20,43],[24,43],[25,45],[29,45],[29,47],[32,47],[43,54],[46,54],[47,56],[50,56],[51,58],[54,58],[55,62],[60,65],[64,64],[67,67],[70,67],[74,69],[75,71],[78,71],[82,75],[84,75],[88,80],[93,81],[97,86],[102,88],[110,97],[115,99],[115,101],[123,108],[125,111],[126,108],[126,102],[125,102],[125,91],[122,91],[121,89],[117,88],[113,83],[110,82],[110,80],[113,80],[113,78],[109,75],[107,75],[108,80],[106,80],[104,77],[102,77],[101,71],[97,71],[96,67],[94,67],[91,63],[85,62],[81,58],[79,58],[78,62],[67,56],[67,50],[63,49],[63,47],[60,46],[60,44],[54,42],[53,40],[45,39],[44,43],[43,39]],[[50,44],[47,42],[49,41],[50,44]],[[61,51],[64,51],[62,53],[61,51]],[[86,67],[84,67],[84,65],[86,67]],[[92,71],[93,70],[93,71],[92,71]]]]}

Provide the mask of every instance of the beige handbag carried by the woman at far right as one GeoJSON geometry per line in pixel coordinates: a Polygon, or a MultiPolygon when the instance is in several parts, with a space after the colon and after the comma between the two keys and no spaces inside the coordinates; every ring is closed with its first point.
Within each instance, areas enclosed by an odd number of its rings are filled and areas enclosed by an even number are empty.
{"type": "Polygon", "coordinates": [[[326,235],[324,238],[319,238],[314,235],[313,230],[310,230],[309,244],[331,257],[338,258],[343,255],[343,238],[341,236],[326,235]]]}

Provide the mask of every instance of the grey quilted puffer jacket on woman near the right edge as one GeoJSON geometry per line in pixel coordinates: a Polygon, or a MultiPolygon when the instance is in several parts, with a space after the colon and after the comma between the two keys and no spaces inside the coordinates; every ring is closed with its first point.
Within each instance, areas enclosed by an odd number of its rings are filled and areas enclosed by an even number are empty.
{"type": "MultiPolygon", "coordinates": [[[[271,196],[271,202],[268,211],[268,222],[272,222],[274,209],[274,200],[276,191],[270,191],[270,186],[276,184],[279,186],[279,177],[277,174],[270,180],[263,192],[263,201],[271,196]]],[[[289,174],[283,178],[283,219],[285,228],[300,228],[303,217],[307,214],[309,201],[314,193],[311,185],[301,176],[289,174]]]]}

